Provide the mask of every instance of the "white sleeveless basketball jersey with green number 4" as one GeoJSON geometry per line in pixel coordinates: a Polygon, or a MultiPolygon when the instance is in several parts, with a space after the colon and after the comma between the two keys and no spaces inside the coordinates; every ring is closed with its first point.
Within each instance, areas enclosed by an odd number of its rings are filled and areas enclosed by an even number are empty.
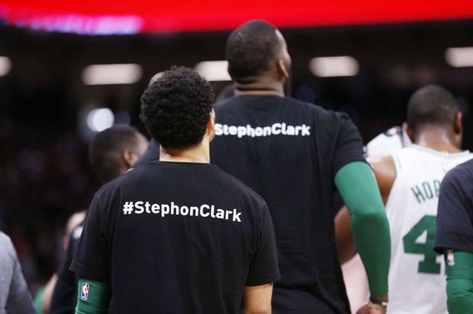
{"type": "Polygon", "coordinates": [[[451,168],[473,157],[411,145],[393,153],[396,179],[386,203],[391,231],[390,314],[445,314],[445,266],[433,251],[438,190],[451,168]]]}

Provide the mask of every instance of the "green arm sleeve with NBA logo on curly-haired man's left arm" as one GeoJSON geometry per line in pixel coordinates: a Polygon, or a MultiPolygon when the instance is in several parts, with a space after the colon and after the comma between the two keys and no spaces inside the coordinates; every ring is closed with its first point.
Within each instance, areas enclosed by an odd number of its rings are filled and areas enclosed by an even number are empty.
{"type": "Polygon", "coordinates": [[[108,313],[111,298],[109,284],[80,278],[76,314],[108,313]]]}

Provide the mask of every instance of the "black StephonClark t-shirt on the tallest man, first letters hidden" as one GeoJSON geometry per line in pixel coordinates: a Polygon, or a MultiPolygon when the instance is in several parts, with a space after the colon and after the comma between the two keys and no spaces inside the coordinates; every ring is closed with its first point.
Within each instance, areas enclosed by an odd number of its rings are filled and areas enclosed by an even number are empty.
{"type": "Polygon", "coordinates": [[[364,161],[347,115],[277,96],[236,96],[215,107],[212,163],[268,203],[282,278],[273,310],[349,313],[335,247],[334,177],[364,161]]]}

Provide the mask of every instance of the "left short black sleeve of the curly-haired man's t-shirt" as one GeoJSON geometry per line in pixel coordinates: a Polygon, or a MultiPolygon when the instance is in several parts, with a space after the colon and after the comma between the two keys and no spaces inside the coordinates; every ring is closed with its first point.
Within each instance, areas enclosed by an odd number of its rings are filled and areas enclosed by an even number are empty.
{"type": "Polygon", "coordinates": [[[109,281],[107,235],[100,231],[102,208],[95,194],[90,204],[84,227],[71,263],[71,270],[79,277],[109,281]]]}

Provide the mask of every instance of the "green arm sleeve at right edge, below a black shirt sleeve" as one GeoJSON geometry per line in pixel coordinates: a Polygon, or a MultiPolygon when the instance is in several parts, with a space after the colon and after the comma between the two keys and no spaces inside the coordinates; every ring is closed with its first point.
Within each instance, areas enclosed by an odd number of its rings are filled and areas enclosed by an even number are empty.
{"type": "Polygon", "coordinates": [[[450,314],[473,313],[473,253],[445,250],[447,306],[450,314]]]}

